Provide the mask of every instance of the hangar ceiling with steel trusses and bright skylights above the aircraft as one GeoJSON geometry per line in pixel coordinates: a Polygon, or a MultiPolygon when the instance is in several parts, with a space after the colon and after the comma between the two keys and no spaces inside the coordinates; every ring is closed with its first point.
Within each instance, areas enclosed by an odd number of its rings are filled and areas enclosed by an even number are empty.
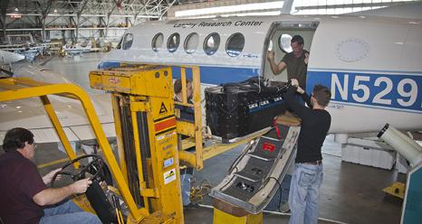
{"type": "Polygon", "coordinates": [[[7,34],[28,33],[38,41],[115,40],[129,26],[146,20],[344,14],[404,2],[409,0],[1,0],[0,42],[7,34]]]}

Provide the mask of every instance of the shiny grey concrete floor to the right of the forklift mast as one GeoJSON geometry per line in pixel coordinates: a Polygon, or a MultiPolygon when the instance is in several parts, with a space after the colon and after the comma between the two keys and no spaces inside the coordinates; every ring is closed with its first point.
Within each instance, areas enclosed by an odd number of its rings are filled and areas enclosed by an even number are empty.
{"type": "MultiPolygon", "coordinates": [[[[324,144],[320,223],[326,223],[322,219],[360,224],[399,223],[401,202],[386,198],[381,190],[396,178],[404,181],[405,175],[341,162],[340,147],[330,139],[324,144]],[[332,154],[333,151],[337,154],[332,154]]],[[[225,177],[225,173],[240,152],[241,148],[238,148],[207,160],[204,163],[205,168],[195,173],[197,182],[206,179],[212,185],[216,185],[225,177]]],[[[211,205],[212,200],[207,198],[203,203],[211,205]]],[[[212,210],[187,209],[185,216],[186,223],[212,223],[212,210]],[[206,217],[206,221],[197,222],[197,217],[206,217]]],[[[288,223],[288,216],[265,215],[264,223],[288,223]]]]}

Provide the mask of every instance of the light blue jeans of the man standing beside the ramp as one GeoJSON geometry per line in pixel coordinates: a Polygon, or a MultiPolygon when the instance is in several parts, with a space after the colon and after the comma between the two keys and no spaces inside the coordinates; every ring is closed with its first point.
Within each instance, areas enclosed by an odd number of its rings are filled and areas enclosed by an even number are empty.
{"type": "Polygon", "coordinates": [[[322,164],[296,163],[290,186],[290,224],[318,223],[322,164]]]}

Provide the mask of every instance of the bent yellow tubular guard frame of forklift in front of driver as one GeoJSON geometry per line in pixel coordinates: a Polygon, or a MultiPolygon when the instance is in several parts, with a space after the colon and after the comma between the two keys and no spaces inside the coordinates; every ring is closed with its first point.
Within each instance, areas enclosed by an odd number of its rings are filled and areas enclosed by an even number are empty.
{"type": "Polygon", "coordinates": [[[133,196],[129,191],[128,183],[125,181],[119,164],[117,163],[116,158],[111,151],[110,144],[107,141],[104,131],[102,130],[100,120],[96,115],[91,100],[83,89],[73,84],[50,84],[28,78],[0,79],[0,89],[5,89],[0,91],[0,101],[11,101],[24,98],[40,98],[43,102],[43,107],[48,117],[50,117],[54,129],[62,141],[62,145],[64,146],[70,159],[74,159],[76,156],[72,151],[72,146],[70,145],[69,140],[67,139],[62,129],[58,117],[54,113],[54,109],[50,103],[48,95],[57,95],[80,100],[86,116],[91,123],[92,130],[97,137],[97,141],[104,153],[106,162],[110,165],[110,171],[115,178],[120,193],[128,205],[130,215],[137,222],[149,216],[149,211],[145,208],[139,209],[133,200],[133,196]]]}

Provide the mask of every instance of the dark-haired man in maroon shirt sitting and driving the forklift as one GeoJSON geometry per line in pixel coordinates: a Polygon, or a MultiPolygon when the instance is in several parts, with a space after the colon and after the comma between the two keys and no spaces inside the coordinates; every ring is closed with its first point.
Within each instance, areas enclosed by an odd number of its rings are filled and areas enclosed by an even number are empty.
{"type": "Polygon", "coordinates": [[[34,159],[36,144],[31,131],[15,127],[5,134],[0,156],[0,218],[7,223],[101,223],[72,201],[74,193],[83,193],[89,179],[62,188],[48,188],[57,169],[41,177],[34,159]],[[60,204],[58,204],[60,203],[60,204]]]}

